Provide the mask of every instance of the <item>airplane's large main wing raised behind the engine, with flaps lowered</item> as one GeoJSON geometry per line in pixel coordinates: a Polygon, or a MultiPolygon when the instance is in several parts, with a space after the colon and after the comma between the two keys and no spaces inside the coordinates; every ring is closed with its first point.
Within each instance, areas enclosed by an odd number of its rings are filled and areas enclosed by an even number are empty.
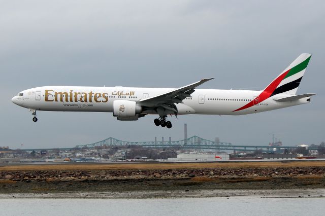
{"type": "Polygon", "coordinates": [[[153,97],[143,98],[139,102],[145,106],[153,107],[160,116],[164,116],[166,110],[173,111],[177,115],[177,107],[175,103],[183,103],[182,100],[186,97],[192,97],[194,88],[214,78],[202,79],[196,83],[180,87],[178,89],[165,92],[163,94],[155,95],[153,97]]]}

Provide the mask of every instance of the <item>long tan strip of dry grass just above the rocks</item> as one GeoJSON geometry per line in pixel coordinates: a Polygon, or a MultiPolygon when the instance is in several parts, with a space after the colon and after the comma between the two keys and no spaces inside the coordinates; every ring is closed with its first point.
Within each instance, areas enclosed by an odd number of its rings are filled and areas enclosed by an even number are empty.
{"type": "Polygon", "coordinates": [[[150,169],[202,169],[202,168],[246,168],[246,167],[319,167],[325,161],[282,162],[211,162],[211,163],[125,163],[125,164],[40,164],[0,166],[0,171],[18,170],[150,170],[150,169]]]}

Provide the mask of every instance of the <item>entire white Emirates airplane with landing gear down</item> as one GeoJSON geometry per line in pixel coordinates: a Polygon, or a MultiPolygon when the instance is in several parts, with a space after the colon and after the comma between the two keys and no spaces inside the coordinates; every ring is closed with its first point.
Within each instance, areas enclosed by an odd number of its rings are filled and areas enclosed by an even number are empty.
{"type": "Polygon", "coordinates": [[[171,128],[167,116],[207,114],[246,115],[310,103],[315,94],[296,95],[311,54],[303,53],[264,90],[197,89],[213,78],[180,88],[43,86],[18,93],[12,102],[37,111],[112,112],[120,121],[159,115],[156,126],[171,128]]]}

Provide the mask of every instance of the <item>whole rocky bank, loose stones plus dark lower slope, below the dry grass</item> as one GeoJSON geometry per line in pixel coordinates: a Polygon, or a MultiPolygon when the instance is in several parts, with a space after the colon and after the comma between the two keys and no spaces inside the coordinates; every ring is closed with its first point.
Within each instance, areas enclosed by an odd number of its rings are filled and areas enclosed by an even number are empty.
{"type": "Polygon", "coordinates": [[[325,167],[0,171],[0,193],[325,188],[325,167]]]}

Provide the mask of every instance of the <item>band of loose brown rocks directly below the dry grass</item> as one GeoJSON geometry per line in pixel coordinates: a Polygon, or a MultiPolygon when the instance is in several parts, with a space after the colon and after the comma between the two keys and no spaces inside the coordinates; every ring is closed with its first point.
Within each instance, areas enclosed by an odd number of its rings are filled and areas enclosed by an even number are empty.
{"type": "Polygon", "coordinates": [[[0,171],[0,180],[42,182],[75,179],[168,179],[186,177],[274,177],[325,175],[325,167],[252,167],[156,170],[49,170],[0,171]]]}

